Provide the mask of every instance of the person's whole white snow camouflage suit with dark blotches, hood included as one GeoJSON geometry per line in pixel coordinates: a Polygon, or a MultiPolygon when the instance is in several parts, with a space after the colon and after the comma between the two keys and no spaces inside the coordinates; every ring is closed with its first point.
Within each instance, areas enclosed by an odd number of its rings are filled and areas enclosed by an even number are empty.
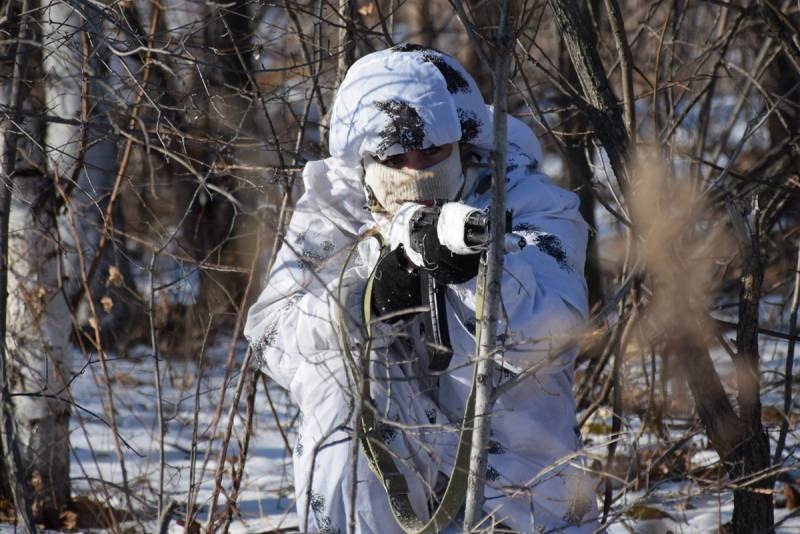
{"type": "MultiPolygon", "coordinates": [[[[505,382],[532,365],[541,369],[495,405],[485,511],[519,532],[592,532],[596,505],[578,456],[572,394],[574,340],[587,315],[587,225],[577,197],[539,171],[533,132],[513,118],[508,126],[507,205],[527,247],[505,258],[500,331],[506,350],[495,378],[505,382]]],[[[379,258],[378,240],[365,235],[385,222],[364,208],[361,159],[460,142],[488,161],[491,132],[490,109],[475,82],[455,60],[430,49],[401,46],[365,56],[339,89],[332,157],[306,165],[305,193],[245,327],[260,369],[301,411],[293,467],[302,531],[347,532],[351,514],[358,532],[400,531],[363,454],[355,466],[354,506],[351,500],[356,388],[339,332],[346,330],[359,354],[364,287],[379,258]],[[357,252],[346,263],[353,247],[357,252]]],[[[487,207],[490,181],[489,171],[481,171],[461,200],[487,207]]],[[[422,518],[429,517],[455,457],[472,382],[475,291],[475,279],[448,286],[454,355],[438,377],[427,371],[419,317],[373,331],[370,394],[422,518]]]]}

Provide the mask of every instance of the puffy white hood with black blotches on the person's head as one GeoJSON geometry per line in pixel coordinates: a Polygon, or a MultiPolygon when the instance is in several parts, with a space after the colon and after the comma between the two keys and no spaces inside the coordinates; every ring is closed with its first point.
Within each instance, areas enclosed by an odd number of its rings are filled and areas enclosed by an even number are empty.
{"type": "Polygon", "coordinates": [[[348,70],[331,112],[331,155],[348,165],[434,145],[490,149],[491,116],[450,56],[417,45],[375,52],[348,70]]]}

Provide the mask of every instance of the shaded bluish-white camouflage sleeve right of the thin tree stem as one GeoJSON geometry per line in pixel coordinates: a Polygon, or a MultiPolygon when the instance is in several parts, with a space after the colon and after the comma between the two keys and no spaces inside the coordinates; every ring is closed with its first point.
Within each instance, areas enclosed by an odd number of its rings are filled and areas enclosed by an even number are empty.
{"type": "MultiPolygon", "coordinates": [[[[513,212],[513,231],[527,246],[505,256],[499,334],[506,364],[515,370],[559,371],[571,368],[588,314],[583,273],[588,226],[577,195],[554,186],[539,170],[541,151],[530,129],[509,118],[509,138],[506,207],[513,212]]],[[[465,202],[487,207],[489,181],[484,176],[465,202]]],[[[470,281],[452,288],[461,307],[457,319],[468,332],[474,329],[475,286],[470,281]]],[[[472,347],[468,343],[461,350],[471,353],[472,347]]]]}

